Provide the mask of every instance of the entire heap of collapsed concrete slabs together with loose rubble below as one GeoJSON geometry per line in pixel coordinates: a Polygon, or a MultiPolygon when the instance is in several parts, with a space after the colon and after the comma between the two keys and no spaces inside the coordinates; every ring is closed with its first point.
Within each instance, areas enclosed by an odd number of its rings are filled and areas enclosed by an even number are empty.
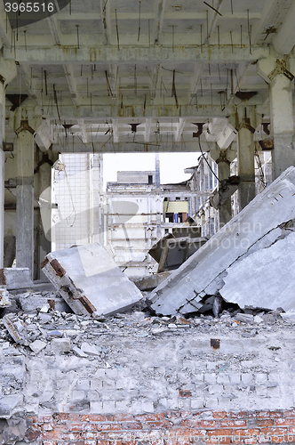
{"type": "Polygon", "coordinates": [[[81,340],[87,327],[101,335],[123,319],[124,326],[144,327],[144,336],[195,326],[204,315],[290,322],[295,319],[294,247],[295,168],[290,167],[207,242],[197,227],[160,240],[151,252],[163,272],[136,283],[97,243],[46,255],[41,268],[56,292],[15,295],[9,310],[3,287],[3,323],[16,344],[34,353],[50,343],[52,352],[84,357],[97,351],[81,340]]]}

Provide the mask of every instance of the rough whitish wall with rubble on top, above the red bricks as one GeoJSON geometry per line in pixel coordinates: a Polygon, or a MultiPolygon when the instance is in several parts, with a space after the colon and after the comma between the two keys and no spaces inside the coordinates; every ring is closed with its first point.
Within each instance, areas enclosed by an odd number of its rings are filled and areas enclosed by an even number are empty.
{"type": "Polygon", "coordinates": [[[0,322],[0,417],[294,406],[294,325],[277,312],[45,315],[18,315],[28,346],[14,344],[0,322]]]}

